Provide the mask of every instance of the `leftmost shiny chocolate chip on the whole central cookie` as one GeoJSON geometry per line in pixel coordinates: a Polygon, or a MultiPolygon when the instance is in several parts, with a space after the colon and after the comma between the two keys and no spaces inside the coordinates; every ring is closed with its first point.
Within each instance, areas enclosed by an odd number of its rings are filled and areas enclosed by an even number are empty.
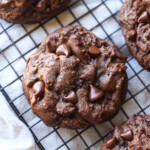
{"type": "Polygon", "coordinates": [[[38,81],[33,85],[33,92],[36,96],[41,96],[44,93],[45,85],[44,82],[38,81]]]}

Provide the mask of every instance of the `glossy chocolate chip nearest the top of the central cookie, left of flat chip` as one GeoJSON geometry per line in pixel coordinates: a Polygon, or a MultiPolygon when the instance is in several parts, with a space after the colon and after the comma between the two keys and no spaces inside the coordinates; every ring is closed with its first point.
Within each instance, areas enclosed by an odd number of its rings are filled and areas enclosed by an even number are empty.
{"type": "Polygon", "coordinates": [[[56,50],[57,55],[65,55],[66,57],[69,57],[70,55],[70,46],[67,44],[60,45],[56,50]]]}

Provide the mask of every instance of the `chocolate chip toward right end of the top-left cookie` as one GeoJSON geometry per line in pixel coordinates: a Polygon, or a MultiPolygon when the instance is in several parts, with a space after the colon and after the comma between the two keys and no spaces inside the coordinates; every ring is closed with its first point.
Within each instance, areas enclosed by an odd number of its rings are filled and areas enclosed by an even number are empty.
{"type": "Polygon", "coordinates": [[[36,6],[34,7],[34,10],[38,12],[43,12],[46,8],[47,8],[46,0],[41,0],[36,4],[36,6]]]}

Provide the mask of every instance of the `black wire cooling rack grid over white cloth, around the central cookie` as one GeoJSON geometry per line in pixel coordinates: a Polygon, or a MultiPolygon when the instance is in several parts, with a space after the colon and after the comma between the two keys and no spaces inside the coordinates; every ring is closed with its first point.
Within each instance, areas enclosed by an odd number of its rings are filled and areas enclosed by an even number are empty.
{"type": "Polygon", "coordinates": [[[122,3],[122,0],[73,0],[62,13],[41,23],[13,25],[0,20],[0,39],[4,39],[0,40],[0,93],[29,128],[41,150],[97,150],[116,124],[124,122],[134,113],[150,114],[150,73],[128,53],[118,22],[122,3]],[[117,9],[113,9],[116,5],[117,9]],[[27,58],[37,50],[47,34],[69,24],[86,27],[128,56],[128,93],[118,115],[111,121],[82,130],[46,127],[32,114],[21,90],[27,58]]]}

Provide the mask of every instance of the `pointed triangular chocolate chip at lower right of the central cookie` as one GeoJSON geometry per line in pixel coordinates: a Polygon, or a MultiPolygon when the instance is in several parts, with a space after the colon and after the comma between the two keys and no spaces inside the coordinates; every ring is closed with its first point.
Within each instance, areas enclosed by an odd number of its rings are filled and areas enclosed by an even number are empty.
{"type": "Polygon", "coordinates": [[[104,94],[101,90],[99,90],[98,88],[96,88],[93,85],[90,85],[90,94],[89,94],[90,101],[94,102],[94,101],[102,98],[103,95],[104,94]]]}

